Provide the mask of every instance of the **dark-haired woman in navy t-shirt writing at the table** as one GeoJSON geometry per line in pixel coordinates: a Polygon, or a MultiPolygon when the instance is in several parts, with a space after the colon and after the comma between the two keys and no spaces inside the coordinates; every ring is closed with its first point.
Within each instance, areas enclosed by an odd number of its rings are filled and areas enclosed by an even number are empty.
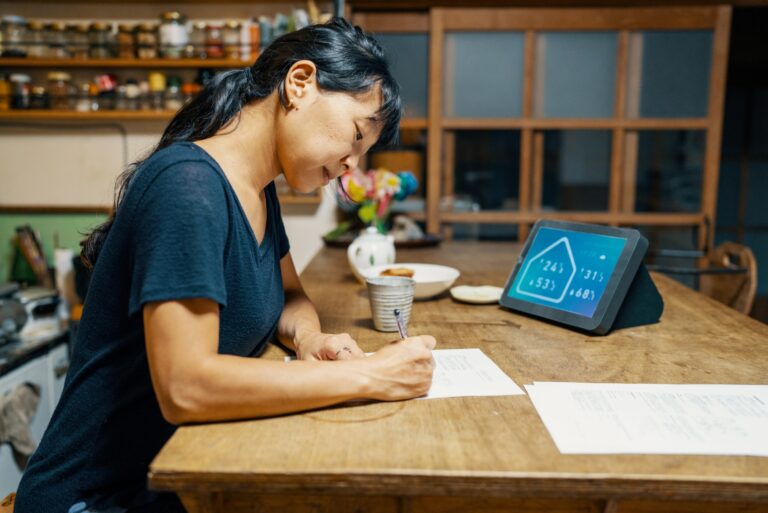
{"type": "Polygon", "coordinates": [[[85,313],[17,513],[183,511],[146,483],[177,424],[429,389],[432,337],[364,358],[349,335],[322,332],[272,183],[327,184],[390,142],[400,112],[379,46],[335,19],[276,40],[176,115],[83,243],[85,313]],[[275,334],[302,361],[247,358],[275,334]]]}

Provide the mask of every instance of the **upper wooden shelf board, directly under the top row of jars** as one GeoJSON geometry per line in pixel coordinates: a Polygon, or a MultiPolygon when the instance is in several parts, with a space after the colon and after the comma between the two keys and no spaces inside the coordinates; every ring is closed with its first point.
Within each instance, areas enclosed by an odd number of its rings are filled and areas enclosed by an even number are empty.
{"type": "Polygon", "coordinates": [[[2,68],[243,68],[239,59],[35,59],[0,58],[2,68]]]}

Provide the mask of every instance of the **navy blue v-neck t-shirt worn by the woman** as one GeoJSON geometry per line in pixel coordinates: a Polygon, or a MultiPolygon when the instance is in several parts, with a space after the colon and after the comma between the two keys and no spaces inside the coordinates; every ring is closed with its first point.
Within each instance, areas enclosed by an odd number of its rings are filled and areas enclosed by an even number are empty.
{"type": "MultiPolygon", "coordinates": [[[[202,148],[176,143],[137,170],[98,257],[61,400],[18,489],[17,513],[183,511],[147,490],[149,463],[175,426],[150,381],[142,307],[220,305],[219,353],[258,355],[283,309],[288,252],[274,184],[258,243],[235,191],[202,148]]],[[[193,343],[194,341],[190,341],[193,343]]]]}

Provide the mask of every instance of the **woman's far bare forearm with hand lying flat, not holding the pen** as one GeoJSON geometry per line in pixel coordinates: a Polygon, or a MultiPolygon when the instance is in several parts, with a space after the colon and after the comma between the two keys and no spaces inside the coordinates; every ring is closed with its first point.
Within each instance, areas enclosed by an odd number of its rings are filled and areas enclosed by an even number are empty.
{"type": "Polygon", "coordinates": [[[280,260],[285,307],[277,325],[280,342],[293,348],[300,360],[348,360],[365,353],[348,333],[323,333],[312,301],[301,285],[291,254],[280,260]]]}

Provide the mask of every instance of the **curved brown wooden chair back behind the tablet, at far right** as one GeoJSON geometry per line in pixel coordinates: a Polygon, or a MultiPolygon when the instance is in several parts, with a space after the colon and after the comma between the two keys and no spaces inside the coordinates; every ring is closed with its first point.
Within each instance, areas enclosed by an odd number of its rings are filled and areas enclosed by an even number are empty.
{"type": "Polygon", "coordinates": [[[699,281],[699,290],[712,299],[749,315],[757,293],[757,261],[752,250],[742,244],[724,242],[712,251],[708,260],[711,269],[742,269],[743,272],[704,272],[699,281]]]}

